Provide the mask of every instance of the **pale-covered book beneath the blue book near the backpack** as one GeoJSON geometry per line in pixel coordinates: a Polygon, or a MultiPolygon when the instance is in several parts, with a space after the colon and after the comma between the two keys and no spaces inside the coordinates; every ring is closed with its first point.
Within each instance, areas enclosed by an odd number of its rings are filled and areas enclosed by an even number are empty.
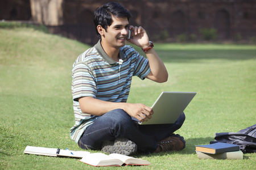
{"type": "Polygon", "coordinates": [[[207,154],[204,152],[196,152],[199,159],[243,159],[242,151],[224,152],[221,154],[207,154]]]}

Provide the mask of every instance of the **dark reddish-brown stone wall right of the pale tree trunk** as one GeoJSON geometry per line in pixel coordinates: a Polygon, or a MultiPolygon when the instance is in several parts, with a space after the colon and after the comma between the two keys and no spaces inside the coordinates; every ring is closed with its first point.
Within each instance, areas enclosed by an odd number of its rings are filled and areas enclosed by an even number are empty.
{"type": "MultiPolygon", "coordinates": [[[[88,40],[96,35],[92,23],[93,12],[108,1],[66,0],[64,24],[83,27],[88,40]]],[[[117,1],[133,15],[130,23],[142,25],[151,39],[159,40],[165,31],[169,40],[186,33],[200,39],[200,28],[217,29],[217,40],[232,40],[240,34],[243,39],[256,36],[256,1],[248,0],[129,0],[117,1]]],[[[74,28],[75,29],[75,28],[74,28]]],[[[69,29],[71,30],[71,29],[69,29]]],[[[82,32],[81,32],[82,33],[82,32]]]]}

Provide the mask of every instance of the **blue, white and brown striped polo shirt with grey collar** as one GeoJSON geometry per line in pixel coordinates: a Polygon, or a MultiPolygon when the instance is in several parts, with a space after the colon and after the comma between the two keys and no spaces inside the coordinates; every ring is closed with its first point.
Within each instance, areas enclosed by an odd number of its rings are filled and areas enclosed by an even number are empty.
{"type": "Polygon", "coordinates": [[[119,50],[119,62],[110,58],[98,41],[76,59],[72,68],[72,95],[75,125],[70,136],[78,143],[86,127],[97,116],[82,113],[78,99],[90,96],[112,102],[126,102],[132,76],[142,80],[150,73],[148,59],[141,56],[132,46],[125,45],[119,50]]]}

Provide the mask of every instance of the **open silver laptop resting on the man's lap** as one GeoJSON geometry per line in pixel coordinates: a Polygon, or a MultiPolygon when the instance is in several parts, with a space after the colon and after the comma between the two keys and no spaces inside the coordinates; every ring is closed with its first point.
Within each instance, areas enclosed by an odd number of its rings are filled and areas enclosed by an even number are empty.
{"type": "Polygon", "coordinates": [[[151,119],[147,122],[133,120],[141,125],[174,124],[195,95],[196,92],[162,92],[152,105],[154,114],[151,119]]]}

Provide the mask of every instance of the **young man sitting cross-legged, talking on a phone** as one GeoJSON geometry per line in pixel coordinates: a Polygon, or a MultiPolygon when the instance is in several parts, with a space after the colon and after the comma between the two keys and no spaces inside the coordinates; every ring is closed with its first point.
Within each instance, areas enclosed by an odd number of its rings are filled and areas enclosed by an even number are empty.
{"type": "Polygon", "coordinates": [[[144,104],[126,103],[131,77],[166,82],[168,73],[142,27],[129,25],[131,14],[118,3],[106,3],[94,12],[100,40],[73,64],[72,94],[75,125],[71,138],[81,148],[131,155],[135,152],[182,150],[185,141],[173,134],[185,120],[175,124],[138,125],[154,118],[144,104]],[[131,39],[126,37],[131,30],[131,39]],[[125,41],[142,48],[142,57],[125,41]]]}

